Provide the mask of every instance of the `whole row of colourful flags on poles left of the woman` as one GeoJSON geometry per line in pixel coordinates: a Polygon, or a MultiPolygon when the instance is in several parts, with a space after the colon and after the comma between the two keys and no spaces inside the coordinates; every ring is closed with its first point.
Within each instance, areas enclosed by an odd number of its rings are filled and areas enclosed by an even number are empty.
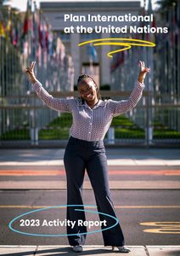
{"type": "Polygon", "coordinates": [[[31,84],[20,73],[31,61],[37,62],[36,75],[48,90],[73,89],[72,58],[34,1],[32,6],[27,0],[25,13],[0,6],[0,46],[0,96],[29,93],[31,84]],[[15,84],[8,79],[9,72],[15,84]]]}

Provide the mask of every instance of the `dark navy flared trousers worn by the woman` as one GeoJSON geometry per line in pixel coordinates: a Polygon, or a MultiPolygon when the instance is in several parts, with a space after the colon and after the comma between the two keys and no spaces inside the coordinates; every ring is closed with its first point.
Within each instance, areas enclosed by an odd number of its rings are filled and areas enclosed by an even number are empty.
{"type": "MultiPolygon", "coordinates": [[[[83,205],[82,202],[82,184],[85,170],[93,187],[98,212],[103,212],[111,216],[115,216],[115,209],[110,197],[109,177],[107,158],[105,154],[104,142],[87,142],[74,137],[70,137],[65,148],[65,172],[67,177],[67,205],[83,205]]],[[[67,234],[76,234],[68,236],[71,246],[84,245],[86,234],[86,226],[78,226],[78,219],[84,221],[85,213],[80,210],[84,207],[67,207],[66,218],[70,221],[76,221],[74,228],[67,226],[67,234]]],[[[103,214],[99,214],[100,220],[106,220],[107,228],[115,224],[115,219],[103,214]]],[[[121,231],[120,224],[110,230],[102,231],[104,238],[104,246],[123,246],[124,236],[121,231]]]]}

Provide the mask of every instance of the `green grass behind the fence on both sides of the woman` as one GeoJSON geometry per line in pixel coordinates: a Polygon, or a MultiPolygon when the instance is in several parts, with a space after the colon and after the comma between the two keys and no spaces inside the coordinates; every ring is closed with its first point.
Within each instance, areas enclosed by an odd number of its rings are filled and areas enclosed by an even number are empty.
{"type": "MultiPolygon", "coordinates": [[[[45,128],[39,131],[40,140],[68,139],[72,116],[70,113],[61,113],[60,117],[53,119],[45,128]]],[[[17,128],[12,131],[6,131],[1,136],[1,140],[30,140],[28,124],[24,123],[24,128],[17,128]]],[[[144,138],[145,132],[138,125],[133,123],[124,115],[117,116],[112,121],[115,128],[115,138],[144,138]]],[[[106,136],[107,137],[107,136],[106,136]]],[[[159,121],[154,123],[154,136],[158,138],[180,138],[179,131],[173,131],[160,124],[159,121]]]]}

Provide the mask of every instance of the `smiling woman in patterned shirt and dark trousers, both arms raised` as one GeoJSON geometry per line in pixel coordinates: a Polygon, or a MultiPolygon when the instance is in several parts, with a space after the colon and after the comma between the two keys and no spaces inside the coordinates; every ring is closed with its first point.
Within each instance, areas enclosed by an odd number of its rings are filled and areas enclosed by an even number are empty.
{"type": "MultiPolygon", "coordinates": [[[[110,197],[108,166],[104,149],[104,136],[110,127],[113,117],[126,113],[134,108],[140,100],[144,88],[143,79],[149,68],[144,66],[143,61],[139,61],[140,72],[138,81],[128,100],[126,101],[102,101],[98,86],[87,74],[83,74],[77,81],[77,88],[80,98],[66,99],[53,98],[42,87],[36,79],[34,73],[35,61],[31,67],[26,68],[26,73],[33,84],[37,96],[45,102],[49,108],[59,112],[72,113],[73,123],[70,128],[70,138],[65,148],[65,172],[67,177],[67,205],[77,205],[79,207],[67,207],[67,219],[74,221],[74,227],[67,227],[67,234],[70,246],[73,251],[82,252],[82,245],[85,244],[87,232],[86,226],[78,226],[78,219],[85,220],[83,211],[75,211],[79,208],[83,210],[82,184],[87,170],[87,175],[91,181],[98,212],[115,216],[115,208],[110,197]],[[80,235],[79,235],[80,234],[80,235]]],[[[107,228],[115,224],[113,218],[99,214],[107,228]]],[[[125,247],[124,236],[120,224],[109,230],[103,230],[104,246],[118,248],[120,253],[129,253],[129,248],[125,247]]]]}

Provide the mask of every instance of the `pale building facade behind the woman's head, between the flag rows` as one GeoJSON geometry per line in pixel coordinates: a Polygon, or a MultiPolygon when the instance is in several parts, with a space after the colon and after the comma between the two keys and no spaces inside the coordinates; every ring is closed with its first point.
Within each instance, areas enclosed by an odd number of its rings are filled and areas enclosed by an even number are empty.
{"type": "MultiPolygon", "coordinates": [[[[87,40],[97,38],[121,38],[121,33],[110,34],[108,32],[74,32],[65,33],[65,27],[70,26],[129,26],[130,22],[113,22],[97,20],[88,21],[88,15],[138,15],[141,9],[140,1],[136,2],[59,2],[59,3],[40,3],[40,9],[46,16],[48,22],[52,25],[53,32],[57,32],[65,44],[68,54],[72,56],[75,68],[75,84],[81,73],[90,73],[96,82],[100,85],[111,84],[110,76],[110,58],[107,53],[110,51],[110,45],[98,46],[95,52],[91,53],[87,45],[79,47],[78,44],[87,40]],[[66,15],[66,16],[65,16],[66,15]],[[68,16],[69,15],[69,16],[68,16]],[[82,15],[82,20],[78,18],[82,15]],[[83,17],[86,17],[83,20],[83,17]],[[65,19],[66,17],[66,19],[65,19]],[[70,19],[71,17],[71,19],[70,19]]],[[[94,50],[94,49],[93,49],[94,50]]]]}

